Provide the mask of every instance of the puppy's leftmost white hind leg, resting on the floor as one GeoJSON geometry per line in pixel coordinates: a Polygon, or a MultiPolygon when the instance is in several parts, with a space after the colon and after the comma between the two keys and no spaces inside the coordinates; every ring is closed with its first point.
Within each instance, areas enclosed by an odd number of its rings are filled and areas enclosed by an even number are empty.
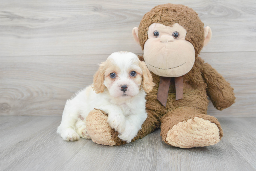
{"type": "Polygon", "coordinates": [[[57,129],[57,133],[61,135],[65,141],[75,141],[80,138],[77,132],[74,130],[75,122],[78,120],[79,110],[72,104],[71,101],[67,101],[63,114],[61,124],[57,129]]]}

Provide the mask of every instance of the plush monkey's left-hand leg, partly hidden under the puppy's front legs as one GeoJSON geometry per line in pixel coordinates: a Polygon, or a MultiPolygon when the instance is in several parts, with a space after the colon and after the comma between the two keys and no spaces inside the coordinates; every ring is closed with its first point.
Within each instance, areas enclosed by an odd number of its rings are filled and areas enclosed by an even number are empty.
{"type": "MultiPolygon", "coordinates": [[[[143,138],[160,128],[160,119],[158,115],[151,110],[147,110],[148,117],[139,130],[137,136],[132,140],[143,138]]],[[[103,145],[123,145],[126,141],[118,138],[118,132],[110,127],[107,122],[108,116],[99,109],[90,111],[86,117],[86,129],[93,142],[103,145]]]]}

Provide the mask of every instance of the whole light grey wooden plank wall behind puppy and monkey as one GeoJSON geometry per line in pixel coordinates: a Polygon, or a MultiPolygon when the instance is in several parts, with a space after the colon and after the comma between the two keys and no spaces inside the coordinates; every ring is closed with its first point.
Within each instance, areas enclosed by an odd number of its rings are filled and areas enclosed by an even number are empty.
{"type": "MultiPolygon", "coordinates": [[[[0,115],[61,116],[66,99],[92,83],[97,63],[115,51],[142,54],[131,35],[143,15],[170,1],[0,3],[0,115]]],[[[256,1],[171,1],[193,8],[210,26],[201,57],[236,93],[236,103],[208,114],[256,116],[256,1]]]]}

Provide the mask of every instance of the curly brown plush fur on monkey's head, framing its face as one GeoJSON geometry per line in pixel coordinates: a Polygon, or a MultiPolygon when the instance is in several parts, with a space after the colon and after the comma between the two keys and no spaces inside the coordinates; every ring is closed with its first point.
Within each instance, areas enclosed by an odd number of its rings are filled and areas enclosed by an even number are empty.
{"type": "Polygon", "coordinates": [[[198,14],[191,8],[178,4],[158,5],[145,14],[139,24],[139,42],[142,50],[148,39],[148,27],[153,23],[172,26],[178,23],[187,30],[185,40],[193,44],[195,53],[199,54],[203,48],[204,30],[203,23],[198,14]]]}

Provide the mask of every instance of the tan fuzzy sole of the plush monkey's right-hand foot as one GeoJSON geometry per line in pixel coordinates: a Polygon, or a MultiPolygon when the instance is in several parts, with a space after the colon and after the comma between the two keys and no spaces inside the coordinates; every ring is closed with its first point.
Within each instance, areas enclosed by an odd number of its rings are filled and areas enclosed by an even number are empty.
{"type": "Polygon", "coordinates": [[[214,145],[220,141],[219,128],[215,123],[195,117],[174,125],[168,131],[166,141],[180,148],[214,145]]]}

